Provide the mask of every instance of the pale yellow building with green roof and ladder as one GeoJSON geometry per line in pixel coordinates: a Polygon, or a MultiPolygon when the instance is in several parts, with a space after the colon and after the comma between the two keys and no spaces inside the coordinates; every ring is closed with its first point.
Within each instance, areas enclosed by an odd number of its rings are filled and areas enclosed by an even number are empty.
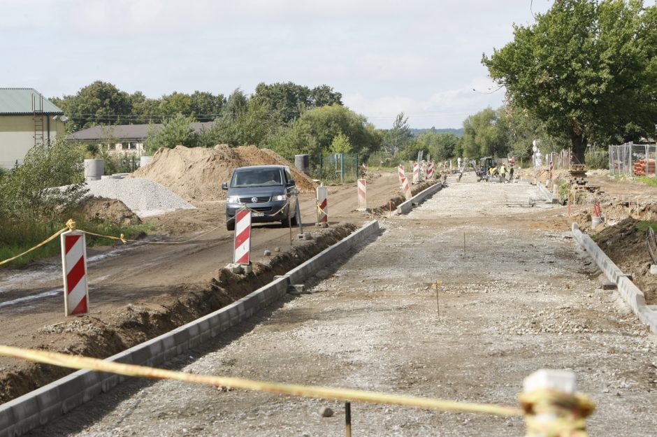
{"type": "Polygon", "coordinates": [[[64,111],[34,88],[0,88],[0,168],[22,164],[36,144],[64,134],[64,111]]]}

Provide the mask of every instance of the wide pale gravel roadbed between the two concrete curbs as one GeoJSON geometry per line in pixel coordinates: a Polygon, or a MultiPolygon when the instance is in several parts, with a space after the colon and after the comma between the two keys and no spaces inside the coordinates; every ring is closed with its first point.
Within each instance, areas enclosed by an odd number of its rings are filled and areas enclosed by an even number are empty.
{"type": "MultiPolygon", "coordinates": [[[[577,373],[591,435],[654,436],[655,336],[535,188],[452,182],[312,294],[288,296],[173,368],[517,405],[538,368],[577,373]],[[465,249],[464,249],[465,235],[465,249]],[[465,253],[464,253],[465,252],[465,253]],[[440,281],[438,302],[434,288],[440,281]]],[[[520,418],[354,405],[354,436],[522,436],[520,418]]],[[[34,436],[343,436],[342,405],[135,380],[34,436]],[[334,417],[320,417],[331,406],[334,417]]]]}

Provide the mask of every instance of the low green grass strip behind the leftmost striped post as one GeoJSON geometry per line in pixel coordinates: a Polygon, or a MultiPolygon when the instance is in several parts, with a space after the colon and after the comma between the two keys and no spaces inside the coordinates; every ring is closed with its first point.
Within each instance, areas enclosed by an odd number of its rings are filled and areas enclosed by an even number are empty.
{"type": "MultiPolygon", "coordinates": [[[[120,236],[120,234],[124,234],[125,238],[130,239],[140,238],[147,234],[147,232],[155,229],[155,226],[152,223],[120,226],[112,222],[83,222],[76,220],[76,224],[78,229],[94,232],[94,234],[109,236],[120,236]]],[[[38,222],[15,222],[3,226],[0,229],[0,261],[15,257],[25,250],[33,248],[35,245],[41,243],[41,241],[44,241],[64,227],[64,222],[51,222],[48,224],[38,222]]],[[[88,247],[117,244],[121,243],[111,238],[87,235],[88,247]]],[[[23,255],[13,262],[4,264],[3,266],[0,266],[0,268],[5,266],[24,266],[29,262],[36,261],[37,259],[59,255],[61,250],[59,238],[55,238],[55,240],[50,241],[50,243],[43,245],[41,248],[23,255]]]]}

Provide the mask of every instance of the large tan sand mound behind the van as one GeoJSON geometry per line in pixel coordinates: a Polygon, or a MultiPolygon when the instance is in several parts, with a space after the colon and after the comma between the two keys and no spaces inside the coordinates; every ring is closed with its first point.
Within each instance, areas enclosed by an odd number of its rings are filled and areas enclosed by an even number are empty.
{"type": "Polygon", "coordinates": [[[147,166],[132,173],[133,178],[147,178],[164,185],[185,200],[214,201],[226,198],[222,182],[230,179],[233,169],[265,164],[287,165],[292,171],[296,186],[301,192],[315,189],[307,175],[294,168],[273,150],[259,149],[254,145],[231,148],[215,145],[214,148],[161,148],[147,166]]]}

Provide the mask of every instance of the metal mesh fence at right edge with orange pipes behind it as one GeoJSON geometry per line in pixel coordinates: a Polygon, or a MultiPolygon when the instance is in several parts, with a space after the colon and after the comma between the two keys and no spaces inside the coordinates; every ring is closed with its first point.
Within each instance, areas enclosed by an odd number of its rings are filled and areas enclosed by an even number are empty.
{"type": "Polygon", "coordinates": [[[609,146],[609,171],[619,176],[656,178],[656,144],[625,143],[609,146]]]}

